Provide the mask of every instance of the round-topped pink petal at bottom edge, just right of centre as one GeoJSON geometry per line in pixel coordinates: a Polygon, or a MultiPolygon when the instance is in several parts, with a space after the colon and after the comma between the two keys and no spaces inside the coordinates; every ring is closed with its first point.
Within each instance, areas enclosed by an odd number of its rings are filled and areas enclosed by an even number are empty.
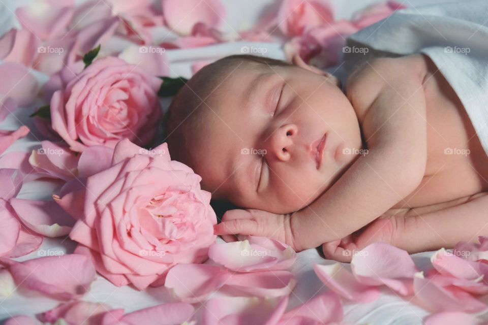
{"type": "Polygon", "coordinates": [[[326,292],[287,311],[281,317],[278,325],[339,323],[343,317],[339,297],[332,292],[326,292]]]}

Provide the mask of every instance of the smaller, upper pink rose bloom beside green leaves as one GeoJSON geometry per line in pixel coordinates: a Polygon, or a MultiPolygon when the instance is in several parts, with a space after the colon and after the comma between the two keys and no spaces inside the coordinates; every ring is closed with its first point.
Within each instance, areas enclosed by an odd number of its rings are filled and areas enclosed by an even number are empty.
{"type": "Polygon", "coordinates": [[[153,139],[161,115],[161,79],[116,57],[67,75],[52,95],[51,123],[72,150],[113,148],[126,138],[144,145],[153,139]]]}

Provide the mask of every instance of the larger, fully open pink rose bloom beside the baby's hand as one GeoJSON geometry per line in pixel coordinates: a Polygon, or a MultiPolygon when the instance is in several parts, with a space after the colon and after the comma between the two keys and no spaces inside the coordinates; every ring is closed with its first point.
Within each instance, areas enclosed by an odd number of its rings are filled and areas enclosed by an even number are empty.
{"type": "Polygon", "coordinates": [[[68,182],[54,198],[78,219],[70,233],[76,253],[91,256],[115,285],[139,289],[162,284],[178,263],[207,259],[217,223],[210,193],[191,168],[170,160],[166,143],[148,151],[126,139],[111,157],[92,154],[106,169],[68,182]]]}

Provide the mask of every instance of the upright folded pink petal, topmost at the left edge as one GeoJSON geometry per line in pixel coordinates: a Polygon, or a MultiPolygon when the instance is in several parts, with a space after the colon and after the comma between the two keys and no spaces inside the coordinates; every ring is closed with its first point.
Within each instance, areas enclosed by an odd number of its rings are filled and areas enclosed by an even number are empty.
{"type": "Polygon", "coordinates": [[[26,28],[11,29],[0,39],[0,59],[32,67],[41,41],[26,28]],[[13,43],[12,43],[13,42],[13,43]]]}

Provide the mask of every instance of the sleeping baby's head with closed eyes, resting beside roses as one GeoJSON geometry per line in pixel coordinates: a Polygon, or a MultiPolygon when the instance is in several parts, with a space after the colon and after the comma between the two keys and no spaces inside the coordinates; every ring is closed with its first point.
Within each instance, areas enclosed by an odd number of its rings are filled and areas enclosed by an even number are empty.
{"type": "Polygon", "coordinates": [[[357,158],[359,124],[338,80],[297,60],[224,57],[173,99],[171,157],[199,174],[213,199],[290,213],[317,199],[357,158]]]}

